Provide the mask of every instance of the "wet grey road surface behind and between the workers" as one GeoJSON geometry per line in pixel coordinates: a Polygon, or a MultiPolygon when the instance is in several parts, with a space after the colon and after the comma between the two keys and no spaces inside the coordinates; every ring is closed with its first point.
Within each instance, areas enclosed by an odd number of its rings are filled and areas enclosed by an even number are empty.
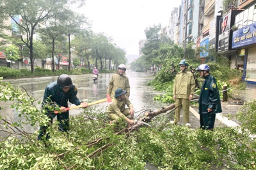
{"type": "MultiPolygon", "coordinates": [[[[91,99],[97,101],[106,98],[106,92],[108,90],[108,84],[111,76],[114,73],[102,73],[99,74],[99,80],[93,82],[92,74],[83,75],[71,75],[73,83],[76,85],[79,99],[91,99]]],[[[134,105],[134,111],[141,111],[143,109],[160,110],[163,107],[168,106],[167,103],[160,103],[154,101],[153,97],[161,92],[156,92],[152,87],[147,86],[148,81],[152,80],[154,76],[148,73],[137,73],[127,71],[126,74],[129,78],[131,86],[131,95],[129,97],[131,103],[134,105]]],[[[37,78],[20,78],[20,79],[10,79],[4,80],[10,82],[11,84],[26,89],[28,94],[32,94],[36,99],[42,100],[44,96],[44,90],[49,83],[56,81],[58,76],[47,76],[47,77],[37,77],[37,78]]],[[[6,105],[6,103],[5,103],[6,105]]],[[[8,104],[7,104],[8,105],[8,104]]],[[[40,107],[40,106],[38,106],[40,107]]],[[[6,111],[1,110],[0,115],[6,116],[6,113],[12,114],[12,117],[17,117],[17,112],[13,110],[6,111]]],[[[107,103],[97,104],[97,108],[107,108],[107,103]]],[[[83,109],[70,110],[70,115],[77,115],[83,109]]],[[[169,117],[173,120],[173,117],[169,117]]],[[[183,115],[180,114],[179,124],[183,124],[183,115]]],[[[199,127],[199,120],[190,113],[189,122],[191,123],[191,128],[195,129],[199,127]]],[[[218,122],[216,122],[218,126],[218,122]]],[[[29,127],[26,127],[26,129],[29,127]]],[[[30,127],[31,128],[31,127],[30,127]]],[[[27,129],[28,131],[36,131],[38,129],[27,129]]]]}

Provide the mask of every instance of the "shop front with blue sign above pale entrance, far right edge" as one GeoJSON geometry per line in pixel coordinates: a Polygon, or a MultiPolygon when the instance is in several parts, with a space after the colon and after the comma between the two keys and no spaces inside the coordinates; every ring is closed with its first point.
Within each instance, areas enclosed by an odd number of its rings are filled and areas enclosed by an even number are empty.
{"type": "Polygon", "coordinates": [[[256,84],[256,2],[240,1],[243,10],[235,17],[232,27],[232,50],[237,50],[231,66],[243,70],[243,80],[256,84]]]}

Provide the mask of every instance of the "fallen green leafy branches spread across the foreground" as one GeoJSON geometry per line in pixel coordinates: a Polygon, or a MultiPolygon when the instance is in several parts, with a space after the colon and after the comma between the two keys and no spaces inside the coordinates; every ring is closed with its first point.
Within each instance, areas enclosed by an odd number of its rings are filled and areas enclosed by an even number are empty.
{"type": "Polygon", "coordinates": [[[255,169],[255,139],[249,136],[256,132],[251,128],[255,101],[239,113],[246,114],[241,132],[229,127],[193,130],[166,124],[167,117],[160,116],[151,128],[125,134],[120,131],[125,124],[108,124],[106,110],[87,108],[70,117],[68,133],[58,131],[54,122],[47,129],[51,138],[37,141],[38,133],[24,131],[24,125],[47,125],[49,119],[35,99],[1,82],[0,100],[15,101],[11,106],[19,114],[12,121],[0,118],[0,131],[6,134],[0,141],[1,169],[143,169],[146,162],[159,169],[255,169]]]}

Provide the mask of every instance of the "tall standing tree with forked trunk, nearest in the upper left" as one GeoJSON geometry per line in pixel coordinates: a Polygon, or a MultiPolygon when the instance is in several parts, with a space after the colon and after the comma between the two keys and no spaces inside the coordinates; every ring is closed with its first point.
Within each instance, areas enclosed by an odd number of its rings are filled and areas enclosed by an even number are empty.
{"type": "MultiPolygon", "coordinates": [[[[73,1],[72,3],[81,3],[83,1],[84,0],[73,1]]],[[[68,3],[70,3],[70,1],[66,0],[28,0],[22,2],[16,0],[1,1],[0,21],[3,23],[4,20],[12,18],[15,22],[14,25],[18,29],[17,34],[20,35],[22,42],[29,48],[31,73],[34,71],[33,36],[35,36],[35,33],[40,29],[40,24],[43,24],[46,20],[50,20],[55,16],[54,14],[59,12],[59,10],[68,9],[68,3]],[[19,17],[17,19],[17,16],[20,16],[21,20],[19,20],[19,17]]],[[[4,27],[6,28],[5,25],[4,27]]],[[[10,27],[10,29],[12,28],[10,27]]]]}

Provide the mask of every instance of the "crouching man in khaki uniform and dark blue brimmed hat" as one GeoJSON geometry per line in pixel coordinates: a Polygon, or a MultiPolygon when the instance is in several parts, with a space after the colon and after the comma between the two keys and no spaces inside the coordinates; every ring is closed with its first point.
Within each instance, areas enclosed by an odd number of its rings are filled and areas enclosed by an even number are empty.
{"type": "Polygon", "coordinates": [[[126,120],[129,124],[134,124],[134,120],[129,119],[128,117],[133,117],[134,111],[133,106],[129,99],[125,97],[126,91],[123,89],[117,89],[115,91],[115,98],[112,99],[113,104],[108,106],[108,115],[111,118],[112,123],[118,123],[120,120],[126,120]],[[125,105],[129,108],[125,109],[125,105]]]}

